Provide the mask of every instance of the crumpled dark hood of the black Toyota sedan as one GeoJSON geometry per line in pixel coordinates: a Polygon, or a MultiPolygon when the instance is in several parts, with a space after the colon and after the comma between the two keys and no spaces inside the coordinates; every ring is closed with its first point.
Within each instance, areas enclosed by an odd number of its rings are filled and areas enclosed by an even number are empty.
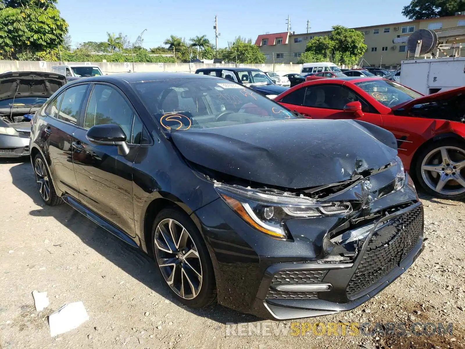
{"type": "Polygon", "coordinates": [[[265,185],[309,188],[377,169],[397,155],[395,137],[352,120],[292,119],[172,131],[187,160],[265,185]]]}

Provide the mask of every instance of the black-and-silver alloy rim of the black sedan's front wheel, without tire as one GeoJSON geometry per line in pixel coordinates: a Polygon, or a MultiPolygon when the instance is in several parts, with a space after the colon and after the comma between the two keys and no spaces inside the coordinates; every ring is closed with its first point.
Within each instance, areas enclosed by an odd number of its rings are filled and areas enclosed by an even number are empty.
{"type": "Polygon", "coordinates": [[[192,236],[178,221],[160,221],[155,229],[155,255],[166,283],[180,297],[195,298],[202,287],[202,265],[192,236]]]}

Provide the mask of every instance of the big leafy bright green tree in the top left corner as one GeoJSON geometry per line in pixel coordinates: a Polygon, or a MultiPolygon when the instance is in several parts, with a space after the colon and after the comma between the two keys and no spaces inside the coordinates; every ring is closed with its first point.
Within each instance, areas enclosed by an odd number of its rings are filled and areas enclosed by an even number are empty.
{"type": "Polygon", "coordinates": [[[39,52],[59,47],[68,24],[57,0],[0,0],[0,51],[39,52]]]}

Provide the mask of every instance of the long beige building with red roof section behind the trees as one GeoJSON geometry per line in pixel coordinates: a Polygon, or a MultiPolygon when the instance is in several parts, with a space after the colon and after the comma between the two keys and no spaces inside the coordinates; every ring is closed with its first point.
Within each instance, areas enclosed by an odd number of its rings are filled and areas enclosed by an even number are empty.
{"type": "MultiPolygon", "coordinates": [[[[393,66],[400,65],[406,59],[405,43],[393,44],[397,37],[408,36],[414,31],[425,28],[438,33],[442,43],[465,42],[465,12],[456,16],[431,18],[428,20],[412,20],[399,23],[380,24],[369,27],[353,28],[365,34],[366,53],[362,65],[393,66]]],[[[295,34],[274,33],[259,35],[255,44],[266,55],[267,63],[296,63],[305,52],[307,42],[315,36],[330,35],[331,31],[295,34]]]]}

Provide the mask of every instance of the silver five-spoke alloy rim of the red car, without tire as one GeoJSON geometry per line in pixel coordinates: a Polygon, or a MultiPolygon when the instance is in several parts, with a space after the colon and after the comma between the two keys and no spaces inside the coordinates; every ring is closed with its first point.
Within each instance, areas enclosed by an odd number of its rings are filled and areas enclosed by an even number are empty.
{"type": "Polygon", "coordinates": [[[421,163],[421,176],[439,194],[465,193],[465,150],[452,146],[433,149],[421,163]]]}

